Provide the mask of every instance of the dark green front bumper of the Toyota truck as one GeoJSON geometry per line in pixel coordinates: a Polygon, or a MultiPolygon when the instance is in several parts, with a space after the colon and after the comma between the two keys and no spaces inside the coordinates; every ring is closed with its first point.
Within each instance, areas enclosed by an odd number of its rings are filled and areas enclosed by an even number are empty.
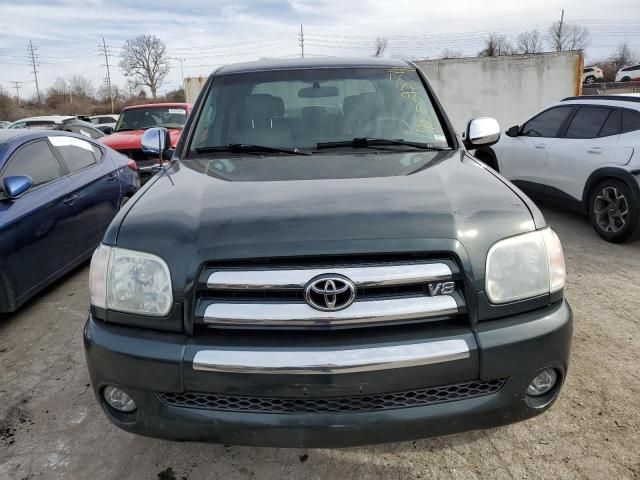
{"type": "MultiPolygon", "coordinates": [[[[201,345],[193,345],[190,337],[113,326],[90,317],[84,339],[96,396],[109,419],[126,431],[179,441],[346,447],[491,428],[525,420],[549,408],[557,398],[569,361],[572,313],[568,304],[562,301],[535,312],[484,322],[476,330],[477,350],[471,353],[471,360],[479,369],[474,374],[480,380],[507,378],[498,392],[427,406],[347,413],[255,413],[170,406],[156,392],[194,391],[198,387],[220,391],[230,386],[238,391],[244,385],[253,395],[272,396],[273,389],[262,380],[265,375],[258,378],[255,373],[207,372],[207,382],[198,384],[196,379],[202,377],[193,376],[192,366],[194,352],[201,345]],[[557,369],[561,382],[546,398],[532,402],[524,393],[527,385],[548,367],[557,369]],[[136,412],[121,414],[106,405],[101,397],[106,385],[126,390],[136,402],[136,412]]],[[[429,379],[432,385],[468,380],[459,378],[460,372],[447,363],[436,367],[449,372],[450,377],[443,382],[436,374],[429,379]]],[[[382,378],[388,379],[388,388],[395,388],[392,384],[403,378],[415,381],[415,371],[416,367],[396,369],[392,376],[382,378]]],[[[351,375],[348,378],[366,378],[370,373],[351,375]]],[[[314,382],[328,391],[349,387],[341,383],[353,383],[329,373],[315,377],[319,380],[314,382]]]]}

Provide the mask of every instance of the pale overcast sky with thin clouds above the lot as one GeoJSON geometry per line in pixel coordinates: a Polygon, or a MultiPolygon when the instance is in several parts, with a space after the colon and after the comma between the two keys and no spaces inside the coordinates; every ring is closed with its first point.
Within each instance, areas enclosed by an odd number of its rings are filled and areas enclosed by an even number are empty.
{"type": "MultiPolygon", "coordinates": [[[[476,55],[490,32],[515,42],[529,29],[543,32],[565,9],[565,21],[591,31],[587,61],[609,55],[623,41],[640,52],[640,0],[0,0],[0,85],[35,92],[27,45],[37,48],[40,88],[56,77],[82,74],[95,87],[104,80],[109,47],[112,81],[124,41],[141,33],[167,44],[172,70],[161,92],[185,76],[207,75],[217,65],[262,57],[370,55],[377,36],[388,38],[385,56],[437,58],[445,48],[476,55]]],[[[15,92],[15,90],[11,90],[15,92]]]]}

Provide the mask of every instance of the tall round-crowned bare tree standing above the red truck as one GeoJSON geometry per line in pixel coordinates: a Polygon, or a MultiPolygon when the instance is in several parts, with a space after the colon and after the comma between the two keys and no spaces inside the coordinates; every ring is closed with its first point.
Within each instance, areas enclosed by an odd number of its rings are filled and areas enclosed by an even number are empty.
{"type": "Polygon", "coordinates": [[[120,68],[136,87],[147,86],[151,96],[169,73],[167,46],[155,35],[138,35],[127,40],[122,50],[120,68]]]}

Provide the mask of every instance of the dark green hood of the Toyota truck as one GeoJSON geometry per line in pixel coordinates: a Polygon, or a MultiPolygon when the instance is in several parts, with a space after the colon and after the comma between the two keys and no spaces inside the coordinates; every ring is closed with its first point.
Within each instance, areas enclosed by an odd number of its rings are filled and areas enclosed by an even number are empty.
{"type": "Polygon", "coordinates": [[[444,251],[483,279],[493,243],[542,226],[463,151],[185,160],[149,183],[105,242],[161,256],[179,289],[210,260],[383,252],[444,251]]]}

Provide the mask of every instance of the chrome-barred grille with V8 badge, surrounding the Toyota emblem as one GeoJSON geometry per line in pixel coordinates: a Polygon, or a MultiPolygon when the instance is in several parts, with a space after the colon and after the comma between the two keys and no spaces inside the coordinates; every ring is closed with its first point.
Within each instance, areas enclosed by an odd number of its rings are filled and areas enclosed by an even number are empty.
{"type": "Polygon", "coordinates": [[[210,265],[200,275],[197,295],[196,324],[226,328],[344,328],[466,313],[460,271],[451,259],[210,265]],[[326,275],[353,283],[350,306],[324,311],[305,301],[309,282],[326,275]],[[455,289],[434,294],[434,285],[443,283],[455,289]]]}

